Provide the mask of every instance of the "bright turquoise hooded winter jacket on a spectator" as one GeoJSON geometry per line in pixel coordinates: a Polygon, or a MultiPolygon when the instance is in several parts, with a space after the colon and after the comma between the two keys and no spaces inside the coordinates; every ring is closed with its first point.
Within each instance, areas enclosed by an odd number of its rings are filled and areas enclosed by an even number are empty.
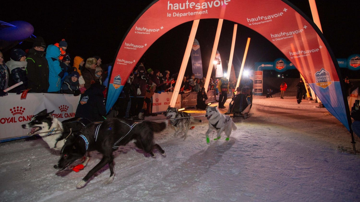
{"type": "Polygon", "coordinates": [[[54,45],[49,45],[46,49],[46,60],[49,64],[49,89],[48,92],[58,92],[61,88],[62,70],[58,57],[60,50],[54,45]]]}

